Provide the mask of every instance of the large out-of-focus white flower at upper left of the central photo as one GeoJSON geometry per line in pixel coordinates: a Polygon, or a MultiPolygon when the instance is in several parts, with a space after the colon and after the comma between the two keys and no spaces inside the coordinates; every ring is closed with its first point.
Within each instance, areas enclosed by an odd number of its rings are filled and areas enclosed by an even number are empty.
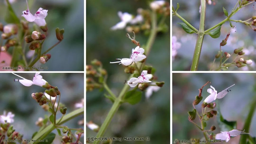
{"type": "Polygon", "coordinates": [[[111,30],[123,29],[126,26],[126,24],[132,20],[132,15],[129,13],[126,13],[126,12],[122,13],[119,11],[117,14],[121,19],[121,21],[116,25],[114,25],[113,27],[111,27],[110,28],[111,30]]]}

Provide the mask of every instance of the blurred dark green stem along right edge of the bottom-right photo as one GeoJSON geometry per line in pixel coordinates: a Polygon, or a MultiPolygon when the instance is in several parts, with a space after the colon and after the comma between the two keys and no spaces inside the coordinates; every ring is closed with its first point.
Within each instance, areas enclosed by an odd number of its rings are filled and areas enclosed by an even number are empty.
{"type": "MultiPolygon", "coordinates": [[[[255,112],[255,108],[256,108],[256,98],[254,97],[254,100],[253,100],[253,102],[251,103],[251,106],[250,106],[248,116],[247,116],[246,121],[245,121],[244,126],[243,126],[244,132],[248,133],[249,130],[250,130],[250,125],[251,125],[251,122],[252,122],[253,114],[255,112]]],[[[241,135],[239,144],[246,143],[247,138],[248,138],[248,135],[241,135]]]]}

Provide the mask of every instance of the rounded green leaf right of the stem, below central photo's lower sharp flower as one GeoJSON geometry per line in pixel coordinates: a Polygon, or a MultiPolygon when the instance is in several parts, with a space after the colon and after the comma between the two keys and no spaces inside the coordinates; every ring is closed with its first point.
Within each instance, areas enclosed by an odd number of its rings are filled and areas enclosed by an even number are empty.
{"type": "Polygon", "coordinates": [[[141,101],[141,97],[141,91],[131,90],[125,94],[124,101],[130,103],[131,105],[135,105],[136,103],[141,101]]]}

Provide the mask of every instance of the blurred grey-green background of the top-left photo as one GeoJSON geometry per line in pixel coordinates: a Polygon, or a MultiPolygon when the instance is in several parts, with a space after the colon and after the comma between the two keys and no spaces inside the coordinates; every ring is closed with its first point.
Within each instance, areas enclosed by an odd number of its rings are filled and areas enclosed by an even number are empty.
{"type": "MultiPolygon", "coordinates": [[[[64,28],[64,39],[49,53],[51,59],[46,64],[36,63],[35,66],[48,67],[45,71],[83,71],[84,70],[84,1],[83,0],[28,0],[29,9],[34,13],[42,7],[48,10],[45,18],[48,35],[43,44],[42,52],[58,42],[55,29],[64,28]]],[[[12,4],[18,18],[25,20],[22,11],[27,9],[25,0],[18,0],[12,4]]],[[[0,1],[0,22],[4,25],[6,5],[0,1]]],[[[32,29],[34,23],[29,23],[32,29]]],[[[29,50],[29,45],[26,51],[29,50]]],[[[12,48],[8,50],[12,53],[12,48]]]]}

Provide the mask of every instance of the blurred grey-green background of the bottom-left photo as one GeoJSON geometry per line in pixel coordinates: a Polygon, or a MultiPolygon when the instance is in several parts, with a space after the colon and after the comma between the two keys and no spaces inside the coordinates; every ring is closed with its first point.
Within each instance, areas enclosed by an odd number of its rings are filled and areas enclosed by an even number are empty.
{"type": "MultiPolygon", "coordinates": [[[[28,80],[33,80],[35,75],[34,73],[16,74],[28,80]]],[[[75,110],[74,104],[79,103],[84,97],[83,73],[41,73],[41,75],[50,85],[58,86],[61,92],[60,102],[68,108],[67,113],[75,110]]],[[[27,87],[19,82],[14,82],[14,79],[20,79],[20,77],[12,73],[0,74],[0,115],[3,114],[4,110],[14,113],[13,128],[23,134],[24,139],[31,139],[33,133],[39,130],[35,124],[38,118],[44,118],[44,115],[50,116],[49,112],[45,112],[39,103],[31,97],[31,94],[44,92],[46,89],[37,85],[27,87]]],[[[57,118],[60,117],[61,114],[58,112],[57,118]]],[[[69,128],[83,128],[77,124],[83,117],[80,115],[63,125],[69,128]]],[[[58,135],[57,130],[53,132],[56,134],[54,143],[60,144],[62,137],[58,135]]],[[[80,141],[83,142],[83,137],[80,141]]]]}

